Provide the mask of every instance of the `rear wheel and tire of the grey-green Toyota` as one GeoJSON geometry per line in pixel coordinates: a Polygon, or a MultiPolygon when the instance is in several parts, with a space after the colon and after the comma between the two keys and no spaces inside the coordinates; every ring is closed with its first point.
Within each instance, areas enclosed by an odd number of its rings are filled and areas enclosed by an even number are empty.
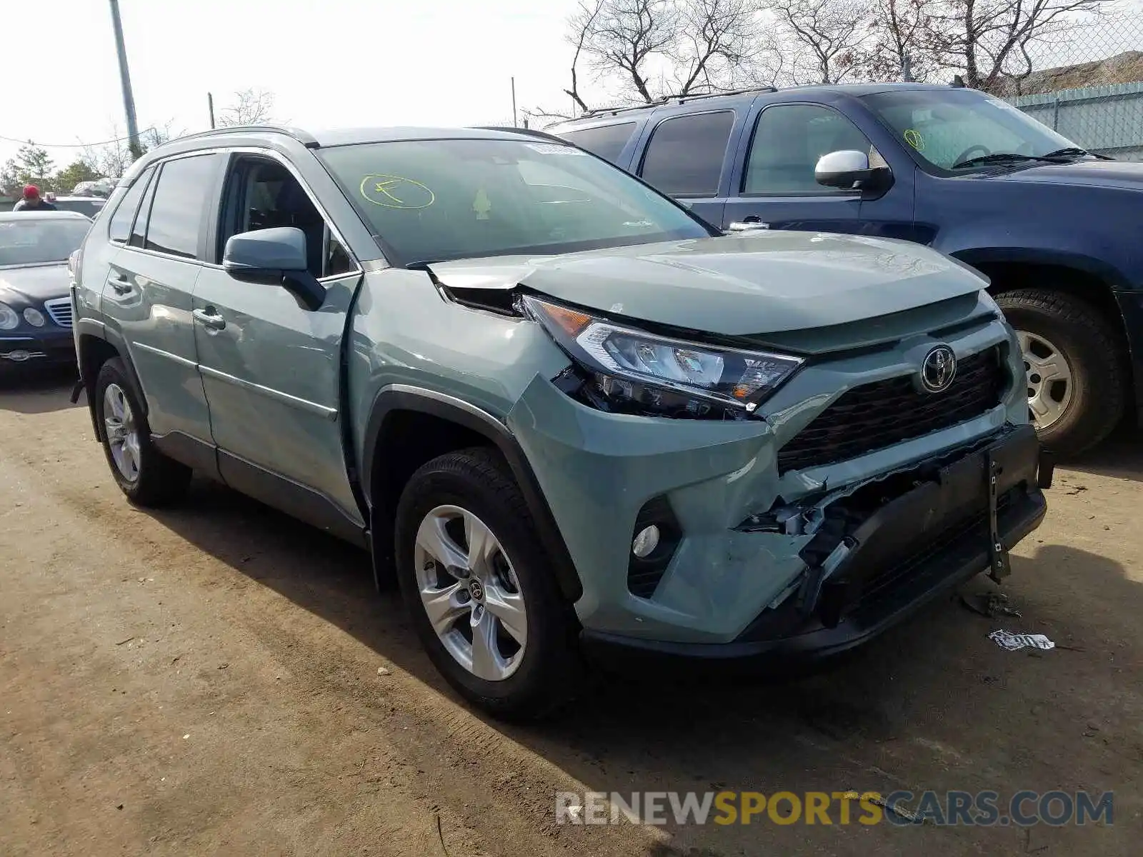
{"type": "Polygon", "coordinates": [[[168,458],[151,442],[146,414],[119,358],[99,367],[95,381],[95,415],[111,475],[127,499],[139,506],[165,506],[182,499],[191,481],[191,468],[168,458]],[[119,443],[117,434],[122,438],[119,443]],[[134,442],[129,441],[131,435],[134,442]]]}

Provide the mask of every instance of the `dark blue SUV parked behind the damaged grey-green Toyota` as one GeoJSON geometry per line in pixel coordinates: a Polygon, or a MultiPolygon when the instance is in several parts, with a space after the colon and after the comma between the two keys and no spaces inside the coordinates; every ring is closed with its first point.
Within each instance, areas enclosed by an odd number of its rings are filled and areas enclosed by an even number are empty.
{"type": "Polygon", "coordinates": [[[596,111],[550,129],[727,231],[849,232],[972,265],[1020,333],[1044,443],[1143,419],[1143,163],[984,93],[815,86],[596,111]]]}

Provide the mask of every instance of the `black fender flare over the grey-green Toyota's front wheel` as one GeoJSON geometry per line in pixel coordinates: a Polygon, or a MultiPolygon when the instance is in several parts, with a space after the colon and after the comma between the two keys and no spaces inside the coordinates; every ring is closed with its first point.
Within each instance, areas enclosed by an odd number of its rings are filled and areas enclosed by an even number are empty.
{"type": "Polygon", "coordinates": [[[369,531],[373,540],[374,569],[384,568],[393,562],[393,534],[387,522],[392,521],[395,510],[378,508],[377,498],[373,492],[373,474],[376,465],[378,439],[385,427],[385,422],[394,411],[418,411],[441,419],[456,423],[490,441],[504,456],[520,491],[523,494],[528,511],[536,526],[541,544],[552,559],[552,569],[560,592],[570,602],[583,594],[583,583],[572,561],[563,536],[555,523],[547,499],[536,480],[523,449],[504,423],[469,402],[438,393],[433,390],[406,384],[390,384],[377,393],[373,410],[366,423],[362,462],[360,471],[361,487],[369,504],[369,531]]]}

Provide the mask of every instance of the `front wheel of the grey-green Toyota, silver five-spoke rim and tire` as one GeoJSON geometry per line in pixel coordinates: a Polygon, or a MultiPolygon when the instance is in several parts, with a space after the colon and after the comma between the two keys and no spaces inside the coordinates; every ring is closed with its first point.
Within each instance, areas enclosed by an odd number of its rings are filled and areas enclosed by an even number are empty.
{"type": "MultiPolygon", "coordinates": [[[[397,507],[395,545],[398,585],[413,625],[433,664],[461,696],[506,720],[542,718],[572,699],[583,674],[578,623],[551,574],[523,496],[497,452],[485,448],[449,452],[414,473],[397,507]],[[470,562],[466,535],[483,532],[479,524],[487,528],[495,547],[486,559],[470,562]],[[440,540],[433,543],[438,547],[447,538],[459,551],[449,554],[457,561],[456,574],[446,571],[437,556],[448,551],[429,552],[418,544],[422,526],[426,534],[438,536],[440,540]],[[473,568],[471,574],[467,566],[473,568]],[[473,580],[479,592],[471,588],[473,580]],[[438,614],[440,625],[450,628],[442,633],[429,616],[422,594],[429,590],[454,592],[449,610],[438,614]],[[497,608],[480,607],[478,599],[497,608]],[[519,611],[507,610],[510,602],[522,603],[523,622],[519,611]],[[499,616],[509,616],[510,622],[499,616]],[[479,658],[485,668],[477,665],[477,620],[496,625],[495,657],[479,658]],[[526,630],[522,646],[520,628],[510,633],[513,624],[526,630]],[[465,640],[465,628],[471,639],[465,640]],[[462,663],[466,647],[471,667],[462,663]],[[489,678],[496,671],[501,674],[489,678]]],[[[445,602],[438,599],[437,603],[445,602]]]]}

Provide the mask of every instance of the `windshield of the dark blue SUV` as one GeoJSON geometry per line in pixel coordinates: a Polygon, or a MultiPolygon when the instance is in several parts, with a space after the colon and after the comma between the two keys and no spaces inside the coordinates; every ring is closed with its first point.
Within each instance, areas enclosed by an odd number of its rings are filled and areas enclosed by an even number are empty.
{"type": "Polygon", "coordinates": [[[980,162],[964,162],[990,154],[1034,157],[1076,146],[1007,102],[974,89],[906,89],[863,101],[922,166],[938,170],[980,169],[980,162]]]}

